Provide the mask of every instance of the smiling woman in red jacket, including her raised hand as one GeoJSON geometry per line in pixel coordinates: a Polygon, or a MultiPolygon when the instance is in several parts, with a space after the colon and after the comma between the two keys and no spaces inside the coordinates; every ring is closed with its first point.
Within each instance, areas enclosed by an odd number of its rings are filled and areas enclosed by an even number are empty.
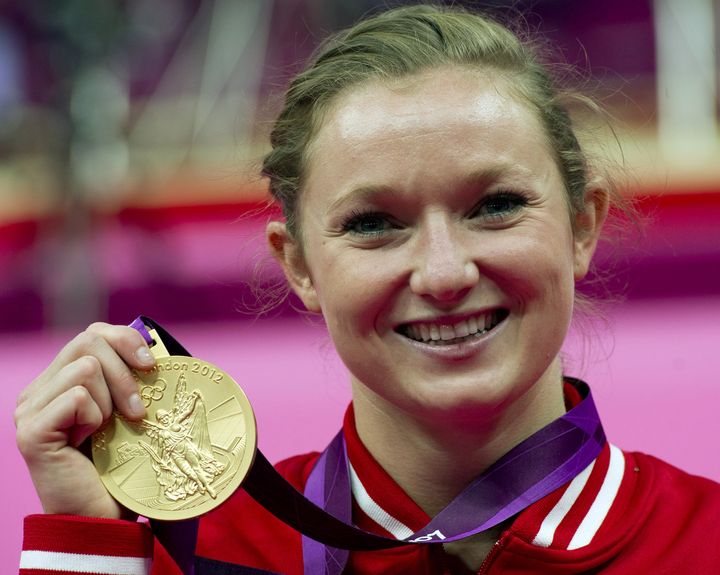
{"type": "MultiPolygon", "coordinates": [[[[368,531],[417,531],[583,401],[559,352],[611,194],[560,101],[507,29],[420,6],[331,38],[288,90],[263,168],[284,221],[267,237],[350,372],[353,521],[368,531]]],[[[109,556],[149,557],[150,531],[123,521],[76,447],[113,405],[145,415],[130,368],[152,361],[134,330],[93,325],[20,398],[18,444],[51,514],[28,519],[27,550],[86,554],[99,573],[115,572],[109,556]]],[[[302,490],[316,461],[278,470],[302,490]]],[[[605,444],[489,529],[353,552],[345,569],[711,573],[718,512],[716,484],[605,444]]],[[[300,534],[243,492],[203,518],[198,555],[303,572],[300,534]]],[[[159,547],[152,572],[175,572],[159,547]]]]}

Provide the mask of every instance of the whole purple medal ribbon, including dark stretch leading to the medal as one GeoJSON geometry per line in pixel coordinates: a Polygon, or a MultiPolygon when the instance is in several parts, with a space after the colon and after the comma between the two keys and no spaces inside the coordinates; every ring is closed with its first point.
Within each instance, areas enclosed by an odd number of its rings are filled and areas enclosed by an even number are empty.
{"type": "MultiPolygon", "coordinates": [[[[190,356],[165,329],[140,316],[131,327],[151,345],[154,328],[172,355],[190,356]]],[[[270,513],[302,533],[305,575],[339,575],[349,550],[438,544],[480,533],[516,515],[565,485],[597,458],[606,443],[590,389],[566,378],[583,396],[562,417],[515,446],[480,474],[445,509],[406,539],[391,539],[352,525],[352,489],[342,431],[320,455],[304,494],[298,492],[257,450],[242,484],[270,513]]],[[[153,531],[184,575],[194,575],[198,519],[151,521],[153,531]]]]}

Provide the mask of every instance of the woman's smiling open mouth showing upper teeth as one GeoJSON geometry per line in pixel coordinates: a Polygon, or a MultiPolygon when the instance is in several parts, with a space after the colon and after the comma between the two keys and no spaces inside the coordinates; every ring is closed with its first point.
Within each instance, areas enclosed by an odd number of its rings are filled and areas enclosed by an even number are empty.
{"type": "Polygon", "coordinates": [[[485,335],[510,312],[496,309],[458,322],[418,322],[402,324],[395,331],[400,335],[428,345],[456,345],[485,335]]]}

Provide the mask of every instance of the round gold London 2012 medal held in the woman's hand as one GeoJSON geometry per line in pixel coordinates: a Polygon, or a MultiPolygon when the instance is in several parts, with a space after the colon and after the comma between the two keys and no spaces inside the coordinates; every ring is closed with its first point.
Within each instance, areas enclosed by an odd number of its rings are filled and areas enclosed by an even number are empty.
{"type": "Polygon", "coordinates": [[[114,412],[92,439],[95,467],[121,505],[151,519],[189,519],[240,486],[257,445],[255,416],[240,386],[194,357],[171,356],[154,330],[157,360],[133,372],[147,414],[114,412]]]}

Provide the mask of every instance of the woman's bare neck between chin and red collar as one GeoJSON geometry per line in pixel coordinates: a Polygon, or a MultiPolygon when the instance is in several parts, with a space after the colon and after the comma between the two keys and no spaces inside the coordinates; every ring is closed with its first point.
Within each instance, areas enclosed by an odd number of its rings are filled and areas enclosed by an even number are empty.
{"type": "Polygon", "coordinates": [[[559,360],[519,397],[499,407],[479,406],[471,414],[418,416],[356,381],[353,405],[362,442],[431,517],[515,445],[565,412],[559,360]]]}

